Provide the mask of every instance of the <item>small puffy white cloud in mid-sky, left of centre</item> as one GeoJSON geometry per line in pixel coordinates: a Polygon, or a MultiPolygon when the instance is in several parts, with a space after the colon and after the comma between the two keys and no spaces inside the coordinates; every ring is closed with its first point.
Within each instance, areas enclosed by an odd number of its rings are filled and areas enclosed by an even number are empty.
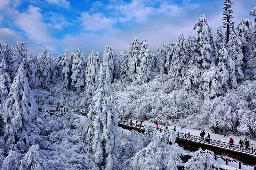
{"type": "Polygon", "coordinates": [[[116,22],[114,19],[106,18],[103,14],[90,15],[87,12],[82,13],[80,20],[86,31],[108,30],[116,22]]]}

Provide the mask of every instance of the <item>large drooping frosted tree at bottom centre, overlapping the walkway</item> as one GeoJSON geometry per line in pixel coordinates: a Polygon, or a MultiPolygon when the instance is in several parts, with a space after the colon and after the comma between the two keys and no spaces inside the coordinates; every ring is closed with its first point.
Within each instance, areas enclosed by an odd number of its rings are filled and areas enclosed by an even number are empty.
{"type": "MultiPolygon", "coordinates": [[[[175,136],[176,133],[172,135],[175,136]]],[[[167,166],[171,170],[178,169],[177,165],[178,162],[180,162],[179,154],[181,152],[181,149],[178,147],[178,144],[167,144],[167,140],[164,133],[160,133],[156,129],[152,129],[152,127],[146,129],[145,133],[141,136],[141,138],[144,139],[145,146],[125,162],[124,165],[128,166],[128,169],[154,170],[164,169],[167,166]]],[[[132,143],[126,144],[131,145],[132,143]]],[[[123,147],[125,148],[128,146],[125,145],[123,147]]],[[[134,147],[137,146],[135,145],[134,147]]]]}

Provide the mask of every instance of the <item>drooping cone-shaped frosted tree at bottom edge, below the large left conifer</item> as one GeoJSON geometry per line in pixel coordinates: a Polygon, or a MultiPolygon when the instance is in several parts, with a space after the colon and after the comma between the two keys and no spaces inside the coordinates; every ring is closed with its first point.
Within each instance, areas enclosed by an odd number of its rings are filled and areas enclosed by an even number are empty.
{"type": "Polygon", "coordinates": [[[50,170],[45,159],[46,158],[40,152],[39,145],[32,145],[26,155],[20,160],[20,167],[18,170],[50,170]]]}

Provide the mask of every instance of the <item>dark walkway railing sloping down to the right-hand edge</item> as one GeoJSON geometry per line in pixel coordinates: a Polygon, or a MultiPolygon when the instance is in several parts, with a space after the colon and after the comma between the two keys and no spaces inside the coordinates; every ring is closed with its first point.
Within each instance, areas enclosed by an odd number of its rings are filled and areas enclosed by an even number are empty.
{"type": "MultiPolygon", "coordinates": [[[[142,128],[142,129],[146,129],[148,128],[147,125],[143,125],[143,124],[139,124],[139,123],[131,123],[131,122],[126,122],[126,121],[122,121],[122,120],[118,120],[118,123],[122,123],[125,125],[130,125],[130,126],[134,126],[134,127],[138,127],[138,128],[142,128]]],[[[160,132],[164,132],[167,133],[169,130],[167,129],[162,129],[162,128],[156,128],[156,127],[152,127],[156,130],[159,130],[160,132]]],[[[235,151],[239,151],[239,152],[244,152],[244,153],[248,153],[248,154],[253,154],[256,156],[256,149],[249,148],[249,147],[245,147],[245,146],[240,146],[237,144],[230,144],[227,142],[222,142],[220,140],[213,140],[213,139],[209,139],[208,142],[206,142],[206,139],[204,137],[198,137],[198,136],[194,136],[194,135],[188,135],[185,133],[180,133],[177,132],[177,137],[179,138],[184,138],[184,139],[188,139],[188,140],[193,140],[196,142],[202,142],[206,145],[214,145],[214,146],[218,146],[221,147],[223,149],[231,149],[231,150],[235,150],[235,151]]]]}

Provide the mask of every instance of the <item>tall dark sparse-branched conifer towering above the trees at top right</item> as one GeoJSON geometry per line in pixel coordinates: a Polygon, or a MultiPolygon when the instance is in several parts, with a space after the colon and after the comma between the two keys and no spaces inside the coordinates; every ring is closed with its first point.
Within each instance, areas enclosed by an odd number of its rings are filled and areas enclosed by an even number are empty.
{"type": "Polygon", "coordinates": [[[234,29],[234,21],[232,21],[232,18],[234,18],[234,17],[232,17],[232,13],[233,13],[233,11],[232,11],[232,8],[231,8],[231,6],[232,6],[232,4],[233,4],[233,2],[232,1],[230,1],[230,0],[225,0],[224,1],[224,3],[223,3],[223,13],[222,13],[222,15],[224,15],[223,17],[222,17],[222,21],[224,21],[223,23],[222,23],[222,26],[223,26],[223,28],[227,28],[227,31],[226,31],[226,43],[228,43],[228,41],[229,41],[229,35],[231,34],[231,29],[234,29]]]}

